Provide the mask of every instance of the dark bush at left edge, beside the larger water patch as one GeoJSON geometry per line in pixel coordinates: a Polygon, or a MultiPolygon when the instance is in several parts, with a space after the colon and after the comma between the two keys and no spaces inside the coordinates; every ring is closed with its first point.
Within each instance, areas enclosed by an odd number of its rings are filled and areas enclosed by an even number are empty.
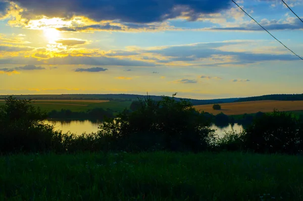
{"type": "Polygon", "coordinates": [[[9,97],[0,106],[0,153],[49,151],[55,141],[53,127],[43,123],[46,113],[30,100],[9,97]]]}

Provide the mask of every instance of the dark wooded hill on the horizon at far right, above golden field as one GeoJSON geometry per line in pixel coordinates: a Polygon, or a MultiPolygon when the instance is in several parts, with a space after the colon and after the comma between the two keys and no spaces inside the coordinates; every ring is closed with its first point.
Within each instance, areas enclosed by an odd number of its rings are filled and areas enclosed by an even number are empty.
{"type": "Polygon", "coordinates": [[[262,100],[281,100],[281,101],[303,100],[303,94],[271,94],[271,95],[239,98],[234,102],[262,101],[262,100]]]}

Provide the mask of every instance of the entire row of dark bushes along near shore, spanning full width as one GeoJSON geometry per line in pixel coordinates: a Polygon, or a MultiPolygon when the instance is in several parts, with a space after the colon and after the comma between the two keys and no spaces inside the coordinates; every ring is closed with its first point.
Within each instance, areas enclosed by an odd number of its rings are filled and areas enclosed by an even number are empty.
{"type": "Polygon", "coordinates": [[[45,124],[47,114],[29,100],[9,97],[0,106],[0,153],[303,151],[303,120],[291,113],[260,113],[242,132],[218,138],[210,114],[200,113],[187,100],[176,101],[175,95],[161,101],[140,99],[136,110],[125,109],[105,119],[96,133],[80,136],[45,124]]]}

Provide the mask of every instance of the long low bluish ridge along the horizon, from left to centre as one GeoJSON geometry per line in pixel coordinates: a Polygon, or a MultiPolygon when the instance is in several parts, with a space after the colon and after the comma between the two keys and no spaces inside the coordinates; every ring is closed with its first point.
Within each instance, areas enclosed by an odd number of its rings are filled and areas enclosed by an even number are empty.
{"type": "MultiPolygon", "coordinates": [[[[0,99],[4,99],[8,95],[0,95],[0,99]]],[[[110,101],[134,101],[138,98],[144,98],[146,95],[136,94],[61,94],[61,95],[14,95],[17,99],[32,99],[32,100],[110,100],[110,101]]],[[[162,96],[150,95],[156,101],[162,99],[162,96]]],[[[176,98],[179,101],[181,98],[176,98]]],[[[224,99],[210,99],[210,100],[198,100],[187,99],[193,105],[207,105],[215,103],[231,103],[238,98],[224,98],[224,99]]]]}

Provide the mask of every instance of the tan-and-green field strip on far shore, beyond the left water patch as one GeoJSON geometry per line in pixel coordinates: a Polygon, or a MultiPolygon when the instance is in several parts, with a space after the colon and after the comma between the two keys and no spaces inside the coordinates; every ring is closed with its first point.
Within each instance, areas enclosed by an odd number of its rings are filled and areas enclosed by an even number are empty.
{"type": "MultiPolygon", "coordinates": [[[[0,105],[5,104],[0,100],[0,105]]],[[[130,101],[107,101],[107,100],[35,100],[33,104],[47,112],[52,110],[69,109],[74,112],[87,111],[92,108],[110,108],[115,112],[129,108],[130,101]]]]}

